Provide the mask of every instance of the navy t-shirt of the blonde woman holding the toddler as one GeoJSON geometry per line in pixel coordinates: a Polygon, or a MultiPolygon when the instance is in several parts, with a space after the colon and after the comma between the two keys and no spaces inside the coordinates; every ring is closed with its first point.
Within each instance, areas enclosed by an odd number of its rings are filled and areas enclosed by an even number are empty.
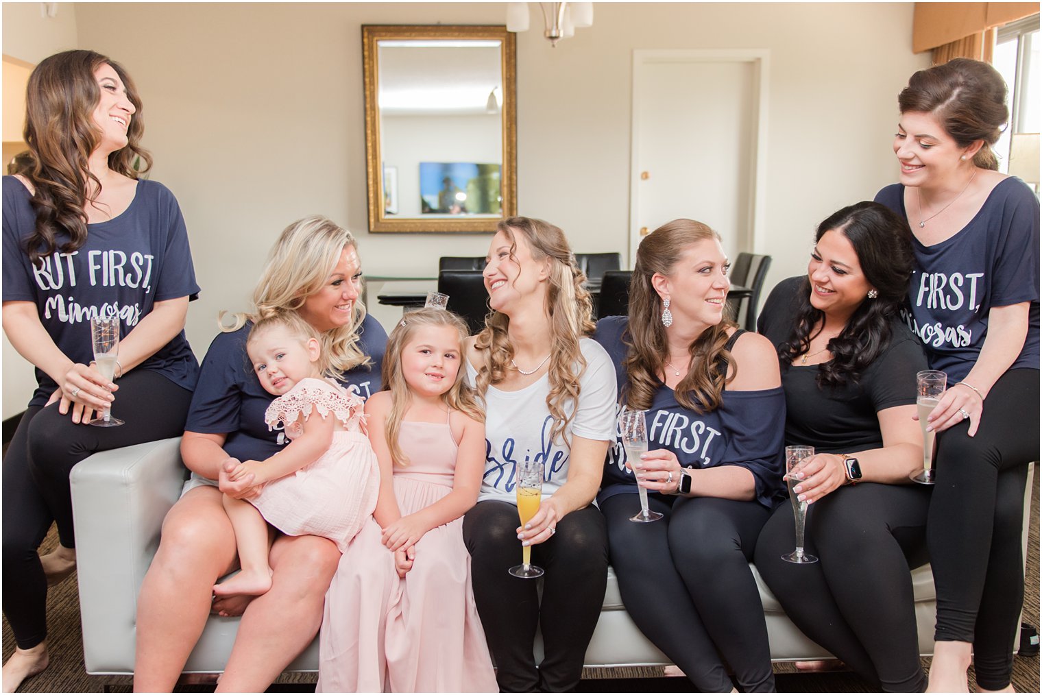
{"type": "MultiPolygon", "coordinates": [[[[202,361],[199,384],[192,395],[184,429],[205,435],[227,435],[224,450],[239,461],[264,461],[287,444],[281,430],[270,431],[264,414],[275,399],[260,386],[246,354],[251,324],[218,333],[202,361]]],[[[380,368],[388,334],[367,315],[358,329],[358,347],[372,365],[356,367],[340,382],[364,399],[380,390],[380,368]]]]}

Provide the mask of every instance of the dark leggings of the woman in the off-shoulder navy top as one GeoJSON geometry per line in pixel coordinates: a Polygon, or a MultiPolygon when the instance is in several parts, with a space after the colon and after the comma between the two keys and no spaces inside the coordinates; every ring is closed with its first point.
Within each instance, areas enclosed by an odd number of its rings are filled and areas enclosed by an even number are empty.
{"type": "Polygon", "coordinates": [[[629,521],[640,510],[636,494],[600,505],[629,617],[697,691],[730,692],[722,655],[740,690],[773,692],[767,622],[749,570],[768,510],[715,497],[651,495],[648,503],[665,518],[629,521]]]}

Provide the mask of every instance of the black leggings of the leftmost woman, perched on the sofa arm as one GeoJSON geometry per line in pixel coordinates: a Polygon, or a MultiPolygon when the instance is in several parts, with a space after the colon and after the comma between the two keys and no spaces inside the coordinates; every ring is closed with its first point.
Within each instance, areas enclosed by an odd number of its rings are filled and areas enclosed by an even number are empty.
{"type": "Polygon", "coordinates": [[[3,460],[3,613],[22,649],[47,637],[47,579],[36,548],[56,522],[58,540],[76,547],[69,472],[96,451],[177,437],[192,392],[149,370],[119,380],[119,427],[75,425],[58,404],[28,408],[3,460]]]}

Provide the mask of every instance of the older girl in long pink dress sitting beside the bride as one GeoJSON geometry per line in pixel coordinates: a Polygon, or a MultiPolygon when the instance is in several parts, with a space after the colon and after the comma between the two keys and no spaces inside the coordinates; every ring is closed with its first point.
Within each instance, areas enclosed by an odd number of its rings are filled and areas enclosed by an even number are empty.
{"type": "MultiPolygon", "coordinates": [[[[477,501],[485,469],[485,414],[461,364],[466,338],[466,324],[454,314],[406,314],[388,340],[384,391],[366,402],[380,467],[374,517],[386,546],[367,550],[374,563],[394,551],[401,578],[379,626],[348,624],[351,618],[332,614],[327,598],[322,640],[382,637],[389,692],[498,691],[463,543],[463,515],[477,501]]],[[[323,660],[318,691],[352,682],[356,664],[350,661],[323,660]]]]}

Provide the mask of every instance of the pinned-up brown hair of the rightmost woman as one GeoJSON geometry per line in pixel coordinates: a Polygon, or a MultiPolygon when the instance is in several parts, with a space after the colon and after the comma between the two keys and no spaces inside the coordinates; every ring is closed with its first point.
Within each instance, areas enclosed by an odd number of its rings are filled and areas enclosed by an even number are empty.
{"type": "Polygon", "coordinates": [[[998,158],[991,148],[1010,119],[1006,95],[1006,81],[993,67],[981,60],[953,58],[912,75],[897,97],[897,105],[902,114],[933,114],[959,147],[983,140],[973,164],[997,171],[998,158]]]}

